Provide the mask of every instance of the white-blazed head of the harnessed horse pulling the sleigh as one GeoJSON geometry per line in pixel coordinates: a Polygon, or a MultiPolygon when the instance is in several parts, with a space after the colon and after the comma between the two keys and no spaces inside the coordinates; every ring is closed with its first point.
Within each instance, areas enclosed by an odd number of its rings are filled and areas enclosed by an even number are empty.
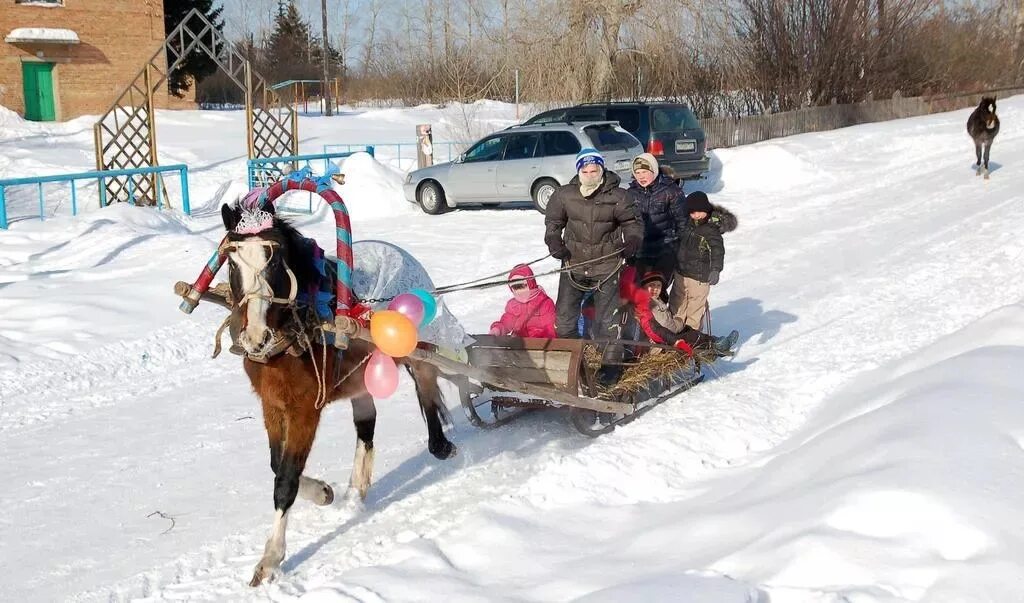
{"type": "Polygon", "coordinates": [[[273,206],[220,208],[227,244],[228,283],[236,310],[242,315],[239,344],[250,354],[267,351],[285,310],[294,302],[299,283],[292,266],[301,236],[276,217],[273,206]]]}

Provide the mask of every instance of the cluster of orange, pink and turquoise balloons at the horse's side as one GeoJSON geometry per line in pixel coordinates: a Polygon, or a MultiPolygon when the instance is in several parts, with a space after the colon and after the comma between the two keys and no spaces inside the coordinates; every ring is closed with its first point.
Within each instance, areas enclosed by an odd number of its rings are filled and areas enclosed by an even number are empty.
{"type": "Polygon", "coordinates": [[[395,358],[408,356],[420,342],[419,328],[426,327],[437,315],[437,301],[430,293],[414,289],[374,312],[370,318],[370,338],[377,349],[370,355],[362,374],[367,392],[375,398],[386,398],[398,388],[398,367],[395,358]]]}

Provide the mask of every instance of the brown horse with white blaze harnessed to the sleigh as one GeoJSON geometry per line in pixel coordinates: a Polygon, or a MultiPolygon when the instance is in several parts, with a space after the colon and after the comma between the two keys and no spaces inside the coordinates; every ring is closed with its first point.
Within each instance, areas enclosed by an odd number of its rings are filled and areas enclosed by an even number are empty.
{"type": "MultiPolygon", "coordinates": [[[[353,340],[338,355],[318,337],[315,308],[296,302],[297,292],[307,291],[317,276],[313,258],[306,240],[273,215],[272,205],[262,210],[225,205],[221,216],[228,231],[228,279],[231,299],[236,300],[232,318],[238,326],[238,343],[246,353],[246,375],[263,405],[274,475],[273,528],[250,582],[255,587],[280,574],[288,511],[295,497],[316,505],[334,501],[330,485],[302,475],[327,402],[352,401],[356,443],[349,487],[366,498],[373,473],[377,410],[367,393],[362,373],[375,348],[353,340]],[[258,212],[265,213],[257,216],[258,212]],[[254,228],[254,223],[262,226],[254,228]]],[[[456,446],[443,432],[450,418],[438,388],[437,369],[412,358],[396,361],[406,367],[416,384],[427,423],[427,448],[437,459],[452,457],[456,446]]]]}

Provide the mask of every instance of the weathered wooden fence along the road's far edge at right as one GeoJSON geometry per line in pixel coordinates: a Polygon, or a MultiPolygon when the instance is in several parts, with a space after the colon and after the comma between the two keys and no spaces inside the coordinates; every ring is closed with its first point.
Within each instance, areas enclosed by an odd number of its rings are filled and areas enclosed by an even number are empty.
{"type": "Polygon", "coordinates": [[[740,118],[711,118],[701,120],[701,125],[708,137],[708,148],[722,148],[805,132],[821,132],[857,124],[967,109],[976,106],[981,102],[982,96],[993,94],[997,98],[1005,98],[1014,94],[1024,94],[1024,88],[868,100],[854,104],[811,106],[797,111],[740,118]]]}

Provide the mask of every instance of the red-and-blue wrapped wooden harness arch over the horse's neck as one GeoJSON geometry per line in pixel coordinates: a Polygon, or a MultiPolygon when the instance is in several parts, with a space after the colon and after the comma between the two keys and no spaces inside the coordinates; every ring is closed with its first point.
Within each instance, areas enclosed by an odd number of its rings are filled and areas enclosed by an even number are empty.
{"type": "MultiPolygon", "coordinates": [[[[337,277],[334,278],[334,295],[331,296],[329,289],[324,291],[324,286],[330,287],[331,278],[329,277],[328,271],[325,266],[326,258],[324,256],[324,250],[316,245],[315,242],[309,240],[311,244],[311,255],[313,257],[316,269],[322,275],[321,284],[315,288],[310,288],[308,292],[301,292],[302,296],[297,298],[301,302],[307,305],[313,306],[315,308],[316,314],[322,318],[330,318],[330,300],[334,297],[337,301],[335,304],[335,319],[341,317],[348,317],[354,311],[360,311],[358,307],[353,308],[352,294],[352,271],[353,271],[353,260],[352,260],[352,227],[351,221],[348,215],[348,209],[345,207],[345,202],[341,199],[334,188],[331,187],[332,174],[334,171],[329,171],[326,175],[319,178],[313,178],[310,174],[308,168],[293,172],[288,178],[280,180],[271,184],[268,188],[255,188],[250,190],[240,202],[239,207],[243,209],[246,214],[247,222],[242,225],[245,232],[239,230],[240,233],[256,233],[261,229],[268,227],[266,222],[266,216],[270,216],[269,212],[262,211],[262,208],[266,207],[266,204],[273,204],[273,202],[289,190],[305,190],[308,192],[315,192],[325,202],[331,206],[331,210],[334,212],[334,222],[335,222],[335,233],[337,239],[337,277]],[[265,216],[263,216],[265,214],[265,216]]],[[[272,223],[272,216],[270,216],[272,223]]],[[[186,314],[190,314],[196,306],[199,304],[199,300],[204,293],[210,289],[210,284],[213,282],[214,275],[220,270],[223,265],[224,260],[227,259],[227,253],[224,251],[228,241],[227,235],[221,240],[220,245],[217,246],[217,250],[213,252],[210,256],[209,261],[203,266],[202,272],[200,272],[199,277],[196,283],[193,284],[191,290],[182,300],[179,308],[186,314]]],[[[336,334],[334,338],[334,345],[337,348],[344,349],[348,346],[348,337],[343,334],[336,334]]]]}

